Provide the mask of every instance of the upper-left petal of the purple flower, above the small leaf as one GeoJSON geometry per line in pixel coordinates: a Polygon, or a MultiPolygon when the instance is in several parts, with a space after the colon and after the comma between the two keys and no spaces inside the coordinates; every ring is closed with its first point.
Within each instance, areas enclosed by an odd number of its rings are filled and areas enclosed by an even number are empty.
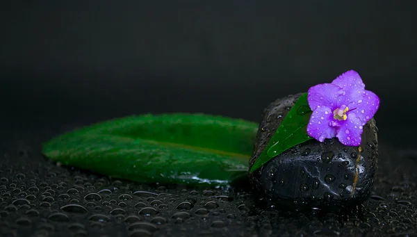
{"type": "Polygon", "coordinates": [[[311,111],[316,110],[320,106],[326,106],[333,109],[336,107],[336,103],[343,94],[343,90],[338,85],[330,83],[314,85],[309,89],[307,100],[311,111]]]}

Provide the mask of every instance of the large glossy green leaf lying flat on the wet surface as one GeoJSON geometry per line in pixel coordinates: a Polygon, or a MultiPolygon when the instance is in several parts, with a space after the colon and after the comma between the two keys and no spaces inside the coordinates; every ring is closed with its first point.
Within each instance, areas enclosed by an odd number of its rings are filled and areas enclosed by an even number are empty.
{"type": "Polygon", "coordinates": [[[228,185],[247,175],[258,124],[202,114],[124,117],[46,142],[47,158],[143,183],[228,185]]]}

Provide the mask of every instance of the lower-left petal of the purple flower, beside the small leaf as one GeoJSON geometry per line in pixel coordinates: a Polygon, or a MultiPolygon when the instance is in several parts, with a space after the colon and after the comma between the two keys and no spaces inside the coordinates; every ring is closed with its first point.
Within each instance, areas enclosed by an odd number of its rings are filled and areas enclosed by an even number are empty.
{"type": "Polygon", "coordinates": [[[320,106],[311,114],[307,133],[320,142],[323,142],[325,138],[334,138],[338,127],[332,126],[333,120],[332,109],[320,106]]]}

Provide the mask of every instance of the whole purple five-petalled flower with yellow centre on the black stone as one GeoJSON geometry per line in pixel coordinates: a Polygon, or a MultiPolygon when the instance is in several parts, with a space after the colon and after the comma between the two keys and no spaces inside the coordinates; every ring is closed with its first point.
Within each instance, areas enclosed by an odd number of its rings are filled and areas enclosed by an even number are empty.
{"type": "Polygon", "coordinates": [[[311,114],[307,133],[323,142],[337,137],[347,146],[359,146],[363,125],[379,108],[379,98],[365,90],[361,76],[347,71],[332,83],[319,84],[309,89],[307,97],[311,114]]]}

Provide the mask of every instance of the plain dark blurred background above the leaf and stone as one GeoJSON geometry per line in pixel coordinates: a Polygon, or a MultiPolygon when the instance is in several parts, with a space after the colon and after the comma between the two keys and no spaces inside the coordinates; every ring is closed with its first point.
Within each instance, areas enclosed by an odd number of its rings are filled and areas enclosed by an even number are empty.
{"type": "Polygon", "coordinates": [[[415,144],[415,8],[406,1],[10,1],[3,125],[202,112],[259,122],[270,101],[357,70],[379,137],[415,144]]]}

